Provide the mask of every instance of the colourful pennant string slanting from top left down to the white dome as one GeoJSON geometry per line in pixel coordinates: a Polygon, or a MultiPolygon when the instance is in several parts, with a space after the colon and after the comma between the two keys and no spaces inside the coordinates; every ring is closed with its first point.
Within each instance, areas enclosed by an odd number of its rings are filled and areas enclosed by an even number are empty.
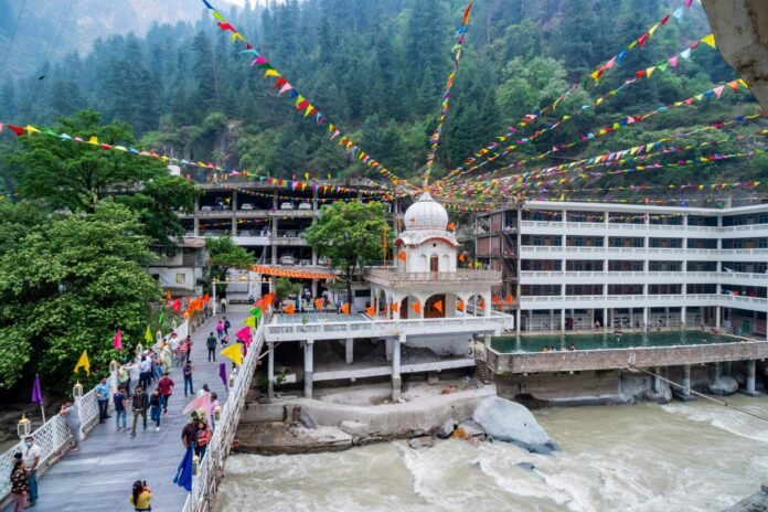
{"type": "Polygon", "coordinates": [[[342,132],[342,130],[338,126],[331,122],[328,119],[328,117],[323,113],[321,113],[317,107],[314,107],[314,105],[312,105],[306,96],[299,93],[295,88],[295,86],[290,82],[288,82],[288,79],[280,72],[278,72],[275,68],[275,66],[273,66],[269,63],[269,61],[267,61],[267,58],[264,55],[259,54],[254,49],[254,46],[243,36],[243,34],[238,32],[237,29],[235,29],[232,25],[232,23],[230,23],[221,14],[221,12],[214,9],[207,0],[202,0],[202,2],[205,4],[205,8],[209,11],[211,11],[211,14],[216,20],[216,24],[218,25],[218,28],[224,32],[232,32],[232,42],[236,43],[237,41],[239,41],[242,44],[245,45],[245,50],[241,53],[244,55],[253,56],[253,61],[250,62],[249,66],[257,67],[264,71],[265,81],[274,81],[271,82],[271,86],[278,89],[278,96],[281,96],[282,94],[287,93],[288,98],[294,100],[294,106],[298,114],[302,115],[302,117],[305,118],[312,119],[319,128],[324,127],[329,134],[330,140],[338,139],[338,145],[343,147],[344,150],[352,154],[352,157],[355,158],[360,163],[380,172],[395,185],[406,184],[405,180],[398,178],[386,167],[384,167],[380,161],[375,160],[373,157],[371,157],[371,154],[363,151],[362,148],[355,141],[353,141],[348,135],[342,132]]]}

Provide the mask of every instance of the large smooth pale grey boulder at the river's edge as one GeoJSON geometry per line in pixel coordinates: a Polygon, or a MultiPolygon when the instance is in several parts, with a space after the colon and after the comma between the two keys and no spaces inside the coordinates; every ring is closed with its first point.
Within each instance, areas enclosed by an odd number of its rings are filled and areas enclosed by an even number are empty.
{"type": "Polygon", "coordinates": [[[493,439],[513,442],[529,451],[548,454],[557,449],[531,412],[520,404],[498,396],[480,402],[472,414],[493,439]]]}

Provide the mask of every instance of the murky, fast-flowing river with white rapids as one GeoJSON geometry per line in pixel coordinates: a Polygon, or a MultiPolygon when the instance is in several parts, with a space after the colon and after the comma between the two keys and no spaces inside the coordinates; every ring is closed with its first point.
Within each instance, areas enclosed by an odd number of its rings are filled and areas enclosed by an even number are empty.
{"type": "MultiPolygon", "coordinates": [[[[728,402],[768,416],[768,397],[728,402]]],[[[766,481],[768,424],[708,402],[534,414],[561,451],[451,439],[233,456],[215,511],[711,512],[766,481]]]]}

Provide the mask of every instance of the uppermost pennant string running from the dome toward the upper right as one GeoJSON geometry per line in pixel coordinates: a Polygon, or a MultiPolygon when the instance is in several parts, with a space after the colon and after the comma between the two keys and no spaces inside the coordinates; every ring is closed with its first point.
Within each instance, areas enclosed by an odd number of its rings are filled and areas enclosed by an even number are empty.
{"type": "MultiPolygon", "coordinates": [[[[611,56],[611,57],[610,57],[608,61],[606,61],[604,64],[601,64],[600,66],[598,66],[598,67],[597,67],[596,70],[594,70],[593,72],[588,73],[584,78],[582,78],[580,82],[573,84],[573,85],[568,88],[568,90],[566,90],[566,92],[563,93],[561,96],[558,96],[554,102],[552,102],[551,104],[548,104],[548,105],[542,107],[541,109],[538,109],[538,110],[536,110],[536,111],[534,111],[534,113],[532,113],[532,114],[526,114],[522,119],[520,119],[520,120],[516,122],[515,126],[510,126],[510,127],[508,128],[506,134],[504,134],[504,135],[501,136],[501,137],[504,137],[505,139],[506,139],[506,138],[510,138],[510,137],[513,137],[520,128],[524,128],[524,127],[529,126],[531,122],[533,122],[535,119],[542,117],[542,116],[545,115],[547,111],[550,111],[550,110],[555,110],[555,109],[557,108],[557,105],[559,105],[562,102],[564,102],[569,95],[574,94],[574,93],[577,92],[579,88],[586,88],[586,86],[587,86],[587,84],[589,83],[590,79],[591,79],[593,82],[595,82],[595,84],[597,85],[597,83],[599,83],[599,79],[600,79],[608,71],[610,71],[610,70],[612,70],[612,68],[615,68],[615,67],[619,67],[619,66],[621,65],[621,63],[622,63],[622,61],[625,60],[625,57],[627,56],[627,53],[628,53],[628,52],[631,52],[632,50],[636,50],[636,49],[642,49],[643,46],[646,46],[646,44],[648,44],[648,42],[651,41],[651,40],[653,39],[654,32],[655,32],[660,26],[666,26],[666,24],[668,24],[668,22],[670,21],[670,19],[674,19],[674,20],[676,20],[678,22],[680,22],[680,21],[682,20],[682,18],[683,18],[684,9],[690,8],[691,4],[692,4],[692,0],[685,0],[683,7],[676,9],[676,10],[673,11],[673,12],[670,12],[670,13],[665,14],[659,22],[657,22],[653,26],[651,26],[651,28],[649,28],[647,31],[644,31],[639,38],[632,40],[632,41],[631,41],[623,50],[621,50],[618,54],[611,56]]],[[[710,36],[706,36],[707,41],[710,41],[708,38],[710,38],[710,36]]],[[[714,45],[714,36],[712,36],[712,43],[713,43],[713,45],[714,45]]],[[[685,58],[686,58],[686,57],[685,57],[685,58]]],[[[494,146],[494,147],[495,147],[495,146],[494,146]]],[[[476,152],[477,152],[477,151],[476,151],[476,152]]],[[[473,158],[469,158],[469,159],[467,159],[467,161],[466,161],[467,164],[471,164],[471,163],[473,163],[473,162],[474,162],[474,159],[473,159],[473,158]]],[[[463,171],[463,170],[465,170],[465,167],[459,167],[459,168],[454,169],[452,171],[450,171],[450,172],[446,175],[445,180],[454,179],[454,177],[455,177],[456,173],[461,172],[461,171],[463,171]]]]}

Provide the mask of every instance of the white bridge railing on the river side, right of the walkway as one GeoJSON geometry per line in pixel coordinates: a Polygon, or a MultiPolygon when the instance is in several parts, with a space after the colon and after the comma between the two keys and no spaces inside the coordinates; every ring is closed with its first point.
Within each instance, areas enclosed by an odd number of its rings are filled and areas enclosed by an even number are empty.
{"type": "MultiPolygon", "coordinates": [[[[269,321],[264,319],[265,323],[269,321]]],[[[218,489],[218,482],[224,472],[224,461],[230,455],[232,441],[235,439],[237,424],[245,405],[245,396],[250,390],[250,383],[256,371],[258,354],[264,346],[264,324],[256,329],[248,354],[243,366],[237,372],[234,387],[230,388],[230,395],[222,408],[221,417],[216,422],[216,429],[209,444],[205,456],[198,463],[198,472],[192,481],[192,492],[186,498],[182,512],[209,512],[213,499],[218,489]]]]}

